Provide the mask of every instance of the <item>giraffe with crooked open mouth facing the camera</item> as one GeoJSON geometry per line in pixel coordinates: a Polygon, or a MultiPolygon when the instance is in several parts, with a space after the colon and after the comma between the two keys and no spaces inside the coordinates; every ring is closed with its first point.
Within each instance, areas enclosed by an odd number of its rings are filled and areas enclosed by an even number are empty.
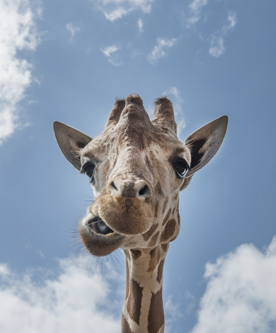
{"type": "Polygon", "coordinates": [[[121,248],[126,261],[122,333],[163,333],[163,266],[179,234],[179,191],[219,149],[228,117],[177,139],[173,106],[155,100],[153,119],[139,95],[117,99],[103,133],[88,135],[55,121],[66,159],[89,178],[95,201],[79,223],[87,251],[96,257],[121,248]]]}

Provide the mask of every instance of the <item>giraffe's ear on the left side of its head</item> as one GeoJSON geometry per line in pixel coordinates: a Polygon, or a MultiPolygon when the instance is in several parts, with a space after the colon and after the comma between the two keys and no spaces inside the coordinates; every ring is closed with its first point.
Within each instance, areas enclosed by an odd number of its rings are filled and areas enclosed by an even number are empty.
{"type": "Polygon", "coordinates": [[[55,136],[61,151],[66,159],[75,166],[75,168],[80,170],[82,165],[78,152],[80,148],[84,148],[92,138],[59,121],[54,121],[53,125],[55,136]]]}

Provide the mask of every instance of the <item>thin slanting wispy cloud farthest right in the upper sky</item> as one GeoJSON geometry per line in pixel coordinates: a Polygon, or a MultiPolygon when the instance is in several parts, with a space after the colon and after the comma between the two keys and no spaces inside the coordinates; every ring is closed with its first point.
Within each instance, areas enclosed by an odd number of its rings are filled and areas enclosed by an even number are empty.
{"type": "Polygon", "coordinates": [[[215,58],[218,58],[225,52],[224,37],[227,36],[237,24],[236,14],[234,12],[230,12],[228,14],[228,21],[229,24],[224,25],[220,30],[211,36],[211,47],[209,48],[209,53],[215,58]]]}

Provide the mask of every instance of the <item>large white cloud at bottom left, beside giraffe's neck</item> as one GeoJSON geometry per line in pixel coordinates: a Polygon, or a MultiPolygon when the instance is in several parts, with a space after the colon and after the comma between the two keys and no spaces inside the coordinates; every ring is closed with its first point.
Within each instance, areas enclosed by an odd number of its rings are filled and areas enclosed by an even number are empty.
{"type": "MultiPolygon", "coordinates": [[[[40,284],[30,273],[18,276],[0,264],[0,332],[120,332],[121,318],[112,314],[114,301],[106,279],[70,259],[60,264],[61,274],[40,284]]],[[[115,303],[117,308],[123,305],[115,303]]]]}

